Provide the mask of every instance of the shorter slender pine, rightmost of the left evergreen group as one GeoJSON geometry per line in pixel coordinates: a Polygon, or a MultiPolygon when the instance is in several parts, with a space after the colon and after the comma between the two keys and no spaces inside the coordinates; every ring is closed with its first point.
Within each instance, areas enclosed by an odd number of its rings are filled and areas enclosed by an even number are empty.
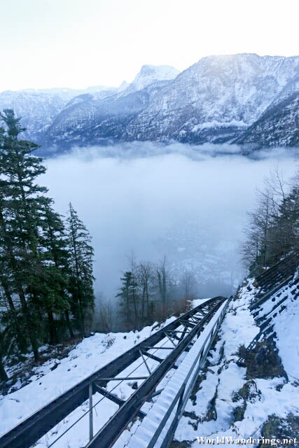
{"type": "Polygon", "coordinates": [[[71,309],[77,318],[81,336],[85,337],[86,318],[90,318],[90,314],[95,307],[93,291],[95,277],[92,275],[94,251],[90,246],[90,234],[71,204],[69,204],[67,224],[71,309]]]}

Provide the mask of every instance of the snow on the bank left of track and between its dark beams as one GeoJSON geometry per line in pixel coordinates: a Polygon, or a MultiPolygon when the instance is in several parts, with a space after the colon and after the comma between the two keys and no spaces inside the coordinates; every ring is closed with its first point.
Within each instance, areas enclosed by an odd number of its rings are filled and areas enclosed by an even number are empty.
{"type": "MultiPolygon", "coordinates": [[[[165,323],[162,323],[162,326],[174,321],[174,319],[175,317],[167,319],[165,323]]],[[[20,423],[22,419],[27,418],[27,416],[46,405],[50,400],[67,391],[71,386],[92,374],[92,372],[99,370],[100,367],[117,358],[121,353],[134,346],[134,344],[139,344],[139,342],[160,328],[157,328],[157,323],[155,323],[143,328],[140,332],[118,332],[106,335],[96,333],[87,339],[83,339],[80,344],[69,352],[67,358],[62,360],[53,358],[42,366],[35,367],[35,374],[31,377],[29,384],[24,387],[20,383],[14,384],[14,390],[19,387],[17,391],[11,393],[8,391],[8,395],[0,394],[0,437],[6,430],[20,423]]],[[[7,370],[7,372],[11,374],[10,370],[7,370]]],[[[146,374],[146,372],[144,365],[139,373],[142,375],[146,374]]],[[[117,384],[113,392],[125,400],[134,392],[133,384],[128,383],[130,381],[122,382],[120,385],[117,384]]],[[[95,402],[101,396],[99,394],[94,395],[95,402]]],[[[94,412],[95,428],[101,427],[107,417],[116,412],[117,409],[118,405],[115,403],[106,398],[102,400],[101,405],[98,405],[96,412],[94,412]]],[[[69,428],[74,421],[78,420],[78,417],[85,410],[87,410],[86,403],[53,428],[48,435],[42,438],[41,443],[36,445],[36,448],[48,447],[48,444],[69,428]]],[[[69,440],[71,440],[69,448],[79,448],[87,444],[88,416],[85,416],[65,437],[62,437],[61,440],[55,443],[55,448],[65,448],[69,440]]]]}

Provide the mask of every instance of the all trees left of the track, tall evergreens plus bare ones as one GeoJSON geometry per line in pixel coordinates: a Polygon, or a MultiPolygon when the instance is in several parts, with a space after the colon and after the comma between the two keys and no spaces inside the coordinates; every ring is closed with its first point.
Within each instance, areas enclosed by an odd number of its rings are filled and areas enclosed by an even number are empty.
{"type": "Polygon", "coordinates": [[[132,255],[116,297],[95,300],[88,230],[71,203],[58,214],[39,185],[46,167],[34,155],[39,145],[20,139],[20,118],[12,109],[0,118],[0,380],[8,360],[32,351],[39,361],[45,344],[139,329],[186,309],[193,276],[174,279],[166,258],[155,265],[132,255]]]}

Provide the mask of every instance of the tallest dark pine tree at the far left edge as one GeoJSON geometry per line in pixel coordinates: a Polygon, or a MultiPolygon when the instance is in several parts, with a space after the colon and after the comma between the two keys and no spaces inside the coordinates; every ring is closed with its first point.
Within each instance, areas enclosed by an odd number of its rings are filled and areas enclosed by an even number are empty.
{"type": "Polygon", "coordinates": [[[6,130],[1,130],[0,139],[1,196],[5,198],[1,223],[3,249],[37,360],[42,318],[37,290],[43,271],[39,246],[40,210],[41,203],[47,201],[44,197],[47,188],[37,185],[35,179],[46,168],[41,165],[41,158],[32,156],[39,146],[18,139],[24,131],[20,118],[15,118],[11,109],[0,113],[0,118],[6,125],[6,130]]]}

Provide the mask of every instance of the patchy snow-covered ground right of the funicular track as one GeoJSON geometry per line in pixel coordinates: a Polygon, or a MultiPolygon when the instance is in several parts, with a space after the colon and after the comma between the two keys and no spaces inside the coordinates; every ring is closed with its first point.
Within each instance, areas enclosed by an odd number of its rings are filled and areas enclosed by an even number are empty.
{"type": "MultiPolygon", "coordinates": [[[[237,351],[241,344],[247,346],[259,331],[248,309],[256,293],[252,283],[253,279],[241,288],[239,300],[231,302],[230,311],[226,314],[221,327],[216,351],[209,358],[211,365],[207,370],[207,377],[200,384],[196,400],[188,401],[185,410],[190,414],[183,416],[179,422],[175,440],[190,442],[188,447],[198,446],[197,437],[208,437],[215,441],[216,437],[258,439],[260,428],[270,414],[283,418],[288,413],[299,414],[299,394],[296,387],[298,380],[296,381],[295,378],[298,378],[299,372],[299,300],[292,300],[292,288],[287,286],[283,291],[283,294],[289,295],[285,302],[286,310],[274,318],[274,330],[277,332],[276,344],[279,356],[289,381],[286,382],[286,379],[282,377],[255,379],[251,385],[254,396],[247,401],[244,418],[242,421],[235,421],[235,408],[242,407],[244,404],[241,397],[236,400],[235,394],[246,383],[246,368],[239,367],[235,363],[238,358],[237,351]],[[211,412],[208,413],[208,411],[211,411],[213,400],[211,418],[211,412]]],[[[273,306],[272,300],[265,302],[259,316],[267,314],[273,306]]],[[[226,442],[222,446],[230,446],[230,444],[226,442]]]]}

